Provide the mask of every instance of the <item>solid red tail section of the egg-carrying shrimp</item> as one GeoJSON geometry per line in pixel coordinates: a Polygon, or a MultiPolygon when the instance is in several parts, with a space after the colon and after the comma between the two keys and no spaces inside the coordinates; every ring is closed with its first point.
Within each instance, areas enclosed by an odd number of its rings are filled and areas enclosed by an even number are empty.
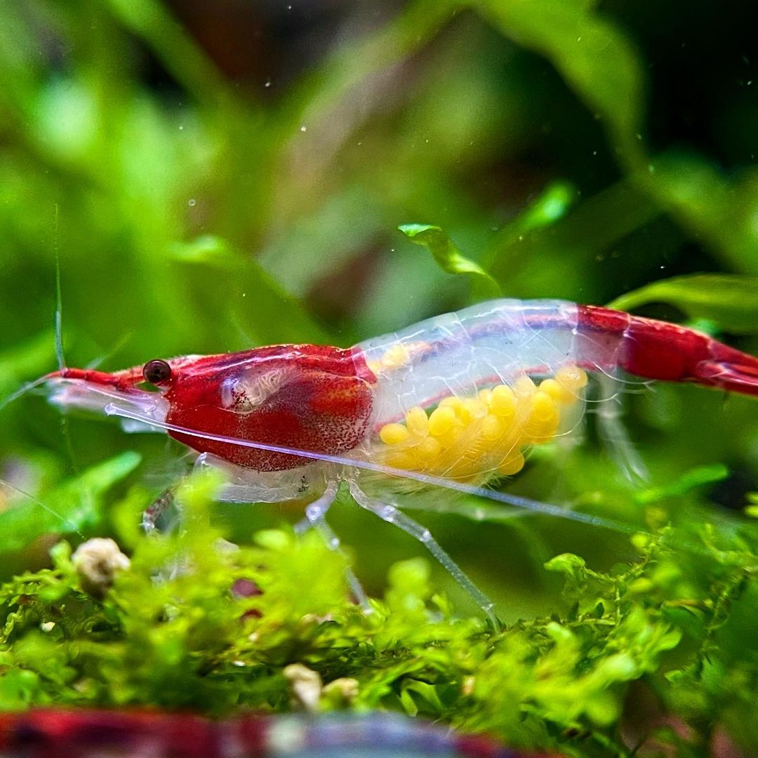
{"type": "Polygon", "coordinates": [[[707,334],[650,318],[579,306],[581,334],[619,337],[619,366],[639,377],[682,381],[758,395],[758,358],[707,334]]]}

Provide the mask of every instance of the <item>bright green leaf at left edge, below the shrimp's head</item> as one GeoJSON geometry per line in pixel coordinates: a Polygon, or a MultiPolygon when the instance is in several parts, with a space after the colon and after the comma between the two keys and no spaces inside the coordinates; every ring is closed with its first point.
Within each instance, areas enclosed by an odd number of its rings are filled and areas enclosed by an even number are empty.
{"type": "MultiPolygon", "coordinates": [[[[103,494],[129,475],[140,459],[127,451],[88,468],[46,493],[43,500],[23,495],[16,503],[11,500],[11,507],[0,512],[0,551],[20,550],[40,534],[75,532],[96,522],[105,505],[103,494]]],[[[8,491],[11,496],[18,494],[8,491]]]]}

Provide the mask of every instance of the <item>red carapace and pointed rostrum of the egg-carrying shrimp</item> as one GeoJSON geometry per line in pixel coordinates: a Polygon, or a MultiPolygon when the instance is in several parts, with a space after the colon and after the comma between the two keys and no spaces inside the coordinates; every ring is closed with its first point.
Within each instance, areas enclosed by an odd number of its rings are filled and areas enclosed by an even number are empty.
{"type": "MultiPolygon", "coordinates": [[[[215,356],[189,356],[108,374],[63,368],[50,379],[112,387],[127,397],[141,393],[155,364],[156,384],[168,402],[165,421],[177,427],[313,453],[344,453],[365,437],[376,381],[355,349],[322,345],[274,345],[215,356]]],[[[200,453],[256,471],[280,471],[307,462],[264,449],[168,431],[200,453]]]]}

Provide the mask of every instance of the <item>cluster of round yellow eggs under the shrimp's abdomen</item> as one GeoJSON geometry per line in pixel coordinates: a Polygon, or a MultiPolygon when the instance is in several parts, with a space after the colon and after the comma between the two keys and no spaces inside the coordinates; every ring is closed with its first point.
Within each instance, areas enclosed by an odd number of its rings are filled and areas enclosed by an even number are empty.
{"type": "Polygon", "coordinates": [[[379,430],[381,462],[459,481],[512,475],[524,466],[526,446],[555,437],[562,412],[580,397],[587,374],[565,365],[534,384],[522,374],[472,397],[448,396],[431,413],[410,409],[402,423],[379,430]]]}

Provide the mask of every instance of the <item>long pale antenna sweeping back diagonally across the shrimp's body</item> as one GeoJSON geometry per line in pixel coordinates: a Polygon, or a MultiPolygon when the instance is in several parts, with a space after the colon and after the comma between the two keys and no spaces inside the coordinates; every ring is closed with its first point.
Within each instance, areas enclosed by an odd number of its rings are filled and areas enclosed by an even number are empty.
{"type": "Polygon", "coordinates": [[[566,510],[560,506],[553,505],[552,503],[541,503],[539,500],[531,500],[531,498],[522,497],[520,495],[511,495],[509,493],[499,492],[497,490],[488,490],[486,487],[478,487],[475,484],[466,484],[465,482],[461,481],[453,481],[442,477],[423,474],[420,471],[406,471],[402,468],[391,468],[390,466],[381,465],[361,459],[348,458],[346,456],[333,456],[329,455],[328,453],[310,453],[308,450],[300,450],[280,445],[267,445],[265,443],[253,442],[252,440],[240,440],[236,437],[227,437],[223,434],[211,434],[210,432],[197,431],[196,429],[189,429],[186,427],[178,426],[177,424],[169,424],[167,421],[158,421],[158,419],[151,418],[147,415],[119,407],[117,402],[109,402],[103,410],[105,411],[106,415],[120,416],[121,418],[132,418],[135,421],[143,421],[146,424],[165,429],[166,431],[175,431],[179,432],[180,434],[186,434],[189,437],[199,437],[202,440],[212,440],[214,442],[223,442],[240,447],[252,447],[259,450],[269,450],[271,453],[283,453],[290,456],[300,456],[324,461],[327,463],[336,463],[352,468],[363,468],[367,471],[377,471],[378,473],[384,475],[413,479],[415,481],[421,482],[422,484],[431,484],[437,487],[445,487],[448,490],[456,490],[458,492],[469,495],[478,495],[487,498],[487,500],[496,500],[500,503],[505,503],[509,506],[515,506],[516,508],[522,508],[534,513],[542,513],[544,515],[567,518],[570,521],[581,522],[583,524],[590,524],[593,526],[600,526],[625,534],[636,534],[640,531],[638,528],[634,528],[628,524],[623,524],[622,522],[616,522],[607,518],[600,518],[600,516],[594,516],[587,513],[566,510]]]}

